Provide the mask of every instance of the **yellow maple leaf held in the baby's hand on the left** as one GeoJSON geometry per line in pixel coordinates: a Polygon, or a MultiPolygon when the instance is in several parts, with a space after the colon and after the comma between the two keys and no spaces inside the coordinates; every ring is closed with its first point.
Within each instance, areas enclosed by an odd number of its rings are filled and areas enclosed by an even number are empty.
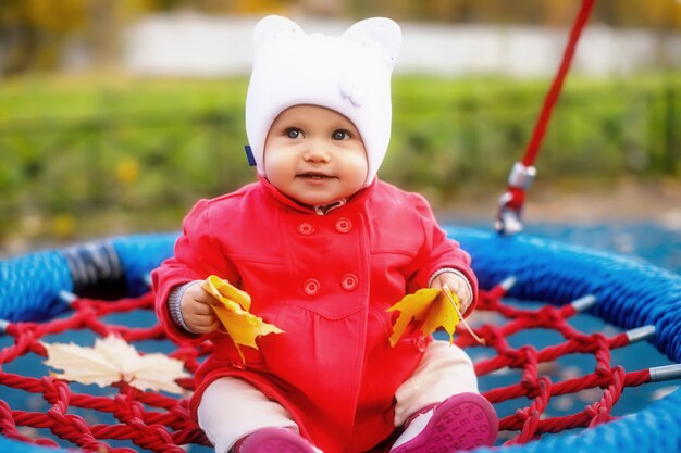
{"type": "Polygon", "coordinates": [[[233,287],[227,281],[211,275],[203,282],[203,289],[213,298],[222,302],[222,305],[212,305],[220,322],[234,341],[234,345],[244,360],[244,353],[239,345],[258,349],[256,338],[268,334],[283,334],[273,324],[268,324],[262,318],[251,314],[250,295],[233,287]]]}

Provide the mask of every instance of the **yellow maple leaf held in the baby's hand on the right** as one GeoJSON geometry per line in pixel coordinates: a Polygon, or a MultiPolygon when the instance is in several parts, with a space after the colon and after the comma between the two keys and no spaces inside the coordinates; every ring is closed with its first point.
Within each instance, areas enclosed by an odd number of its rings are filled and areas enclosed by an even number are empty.
{"type": "Polygon", "coordinates": [[[420,289],[413,294],[405,295],[401,301],[387,310],[399,312],[393,325],[391,345],[397,344],[412,320],[419,323],[419,328],[424,336],[433,334],[439,327],[444,328],[449,334],[449,343],[453,343],[454,331],[461,320],[459,307],[459,298],[445,289],[420,289]],[[456,303],[456,307],[453,302],[456,303]]]}

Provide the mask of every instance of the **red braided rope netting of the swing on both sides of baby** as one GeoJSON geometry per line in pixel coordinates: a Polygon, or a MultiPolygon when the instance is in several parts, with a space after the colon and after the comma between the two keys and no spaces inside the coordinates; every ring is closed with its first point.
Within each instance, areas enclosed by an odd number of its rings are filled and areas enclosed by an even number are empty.
{"type": "MultiPolygon", "coordinates": [[[[621,366],[611,365],[610,351],[630,342],[627,334],[608,338],[602,332],[583,334],[569,324],[570,318],[577,314],[579,304],[530,309],[505,301],[505,291],[503,285],[491,291],[483,291],[476,311],[482,316],[482,324],[475,315],[471,319],[476,326],[474,332],[484,339],[485,345],[481,347],[463,328],[458,329],[456,342],[467,348],[469,353],[476,348],[486,351],[486,357],[475,358],[475,369],[481,376],[483,389],[485,376],[503,374],[504,370],[513,370],[520,376],[516,382],[506,382],[483,393],[495,404],[497,411],[505,402],[510,402],[515,407],[506,416],[499,411],[500,439],[505,439],[506,443],[525,443],[546,432],[555,433],[608,421],[612,418],[611,410],[626,387],[651,380],[647,369],[626,373],[621,366]],[[485,316],[492,316],[494,323],[485,322],[485,316]],[[527,343],[519,348],[511,347],[509,337],[528,329],[550,329],[561,340],[540,348],[527,343]],[[568,354],[592,355],[596,361],[595,368],[584,376],[553,382],[542,369],[568,354]],[[574,414],[556,417],[547,415],[546,408],[553,398],[585,389],[602,389],[598,391],[599,398],[574,414]],[[523,402],[522,399],[527,401],[523,402]]],[[[117,301],[79,299],[72,306],[74,312],[66,317],[46,323],[17,323],[8,326],[3,341],[11,344],[0,350],[2,399],[7,398],[9,390],[20,391],[25,393],[20,400],[39,400],[39,404],[34,401],[28,405],[41,407],[13,408],[8,402],[0,400],[0,433],[7,438],[42,445],[58,445],[53,440],[57,437],[81,449],[97,452],[136,451],[129,446],[120,446],[125,442],[131,446],[134,444],[153,452],[184,452],[179,445],[185,444],[208,445],[188,410],[191,379],[178,380],[177,383],[187,391],[181,398],[140,391],[126,383],[116,383],[106,389],[103,394],[97,395],[92,393],[99,389],[94,386],[54,378],[42,364],[39,364],[36,377],[10,373],[13,365],[21,368],[20,362],[29,360],[30,356],[34,362],[45,360],[47,351],[41,341],[62,341],[61,337],[64,335],[83,336],[94,332],[95,337],[103,338],[115,334],[138,347],[140,351],[145,351],[145,348],[154,349],[153,352],[161,350],[169,356],[181,360],[189,373],[197,369],[201,357],[212,349],[209,343],[198,348],[171,343],[156,323],[151,294],[117,301]],[[133,319],[127,323],[139,325],[145,313],[150,319],[148,327],[128,327],[115,323],[119,319],[116,316],[127,314],[133,319]],[[152,347],[149,348],[149,344],[152,347]],[[88,393],[81,392],[81,389],[88,393]],[[104,414],[110,423],[101,423],[99,417],[88,415],[89,411],[104,414]],[[88,423],[91,419],[94,421],[88,423]],[[41,429],[44,432],[40,432],[41,429]],[[46,437],[50,436],[45,432],[46,429],[51,431],[52,439],[46,437]]]]}

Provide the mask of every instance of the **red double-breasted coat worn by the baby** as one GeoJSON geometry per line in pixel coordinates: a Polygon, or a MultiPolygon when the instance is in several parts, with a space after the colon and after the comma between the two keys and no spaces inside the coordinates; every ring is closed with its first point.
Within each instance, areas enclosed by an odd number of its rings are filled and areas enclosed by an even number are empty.
{"type": "MultiPolygon", "coordinates": [[[[244,347],[210,337],[215,352],[196,374],[196,410],[206,387],[243,378],[278,401],[304,436],[325,453],[368,451],[394,430],[394,394],[416,369],[426,342],[405,335],[391,348],[406,293],[469,255],[446,239],[423,198],[374,181],[342,207],[317,215],[267,180],[199,201],[183,224],[174,257],[153,273],[157,311],[172,337],[189,340],[170,319],[170,290],[211,274],[251,297],[251,312],[285,334],[244,347]]],[[[206,337],[195,338],[202,341],[206,337]]]]}

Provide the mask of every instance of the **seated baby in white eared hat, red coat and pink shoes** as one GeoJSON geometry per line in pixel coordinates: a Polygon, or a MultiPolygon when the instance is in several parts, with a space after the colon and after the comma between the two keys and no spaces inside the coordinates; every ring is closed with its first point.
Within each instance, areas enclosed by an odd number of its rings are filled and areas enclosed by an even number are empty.
{"type": "Polygon", "coordinates": [[[472,363],[418,326],[392,347],[388,307],[445,285],[469,314],[469,255],[426,201],[377,179],[401,45],[387,18],[340,37],[269,16],[253,33],[246,128],[258,181],[199,201],[153,273],[177,341],[210,340],[191,399],[219,453],[454,452],[492,445],[497,418],[472,363]],[[284,330],[239,355],[201,282],[218,275],[284,330]]]}

